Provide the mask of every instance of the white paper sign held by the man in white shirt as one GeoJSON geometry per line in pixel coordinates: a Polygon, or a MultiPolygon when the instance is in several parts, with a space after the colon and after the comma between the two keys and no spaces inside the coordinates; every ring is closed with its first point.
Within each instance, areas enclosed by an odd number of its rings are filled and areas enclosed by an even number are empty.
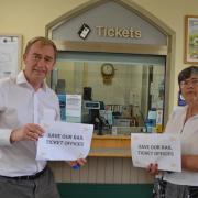
{"type": "Polygon", "coordinates": [[[87,157],[92,124],[43,121],[42,127],[46,132],[37,141],[36,160],[75,161],[87,157]]]}

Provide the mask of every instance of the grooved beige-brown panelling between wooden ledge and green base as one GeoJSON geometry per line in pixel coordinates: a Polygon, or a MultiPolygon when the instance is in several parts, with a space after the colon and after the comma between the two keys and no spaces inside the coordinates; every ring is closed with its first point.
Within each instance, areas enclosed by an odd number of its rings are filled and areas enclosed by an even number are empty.
{"type": "Polygon", "coordinates": [[[57,183],[91,184],[145,184],[153,177],[143,168],[133,167],[127,157],[88,157],[79,169],[73,169],[66,162],[50,162],[57,183]]]}

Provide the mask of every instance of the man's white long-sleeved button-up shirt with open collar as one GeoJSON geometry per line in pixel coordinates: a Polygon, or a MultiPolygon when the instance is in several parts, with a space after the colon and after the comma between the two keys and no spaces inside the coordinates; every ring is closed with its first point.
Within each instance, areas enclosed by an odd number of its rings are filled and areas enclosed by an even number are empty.
{"type": "Polygon", "coordinates": [[[35,141],[11,144],[10,134],[26,123],[40,123],[47,111],[59,120],[58,98],[45,82],[35,91],[23,72],[0,80],[0,175],[33,175],[45,167],[45,161],[35,160],[35,141]]]}

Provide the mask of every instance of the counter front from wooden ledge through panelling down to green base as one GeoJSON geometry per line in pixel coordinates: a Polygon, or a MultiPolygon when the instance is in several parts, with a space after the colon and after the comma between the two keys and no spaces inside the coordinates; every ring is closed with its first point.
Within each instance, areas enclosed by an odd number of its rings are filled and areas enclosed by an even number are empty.
{"type": "Polygon", "coordinates": [[[65,162],[50,164],[62,198],[152,198],[153,177],[133,167],[129,135],[95,134],[87,164],[78,170],[65,162]]]}

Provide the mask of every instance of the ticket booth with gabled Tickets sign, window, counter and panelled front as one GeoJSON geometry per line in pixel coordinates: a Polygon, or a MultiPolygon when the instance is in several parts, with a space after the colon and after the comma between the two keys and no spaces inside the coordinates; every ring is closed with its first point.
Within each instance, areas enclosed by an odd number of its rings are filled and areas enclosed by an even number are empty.
{"type": "MultiPolygon", "coordinates": [[[[151,185],[153,178],[144,169],[133,167],[130,133],[144,132],[145,127],[148,132],[161,132],[167,119],[164,117],[168,114],[167,66],[174,53],[170,51],[173,33],[164,30],[166,25],[158,20],[154,22],[151,15],[144,16],[143,10],[136,15],[139,9],[128,9],[131,4],[125,1],[96,1],[96,7],[90,2],[91,7],[81,8],[81,13],[79,10],[77,14],[66,13],[46,26],[47,35],[58,46],[56,67],[48,85],[57,95],[81,95],[81,121],[94,124],[96,130],[87,165],[73,170],[65,163],[55,163],[55,177],[62,184],[89,184],[87,191],[96,185],[100,190],[94,190],[90,197],[142,197],[139,194],[144,193],[142,184],[151,185]],[[82,31],[91,31],[87,38],[81,40],[81,29],[76,31],[81,24],[77,25],[76,21],[87,24],[82,25],[82,31]],[[96,26],[138,28],[142,37],[103,36],[97,34],[96,26]],[[91,101],[91,107],[84,106],[86,101],[91,101]],[[114,130],[117,135],[112,135],[114,130]],[[103,135],[97,135],[99,133],[103,135]],[[100,186],[103,184],[109,190],[100,186]],[[123,194],[128,191],[125,185],[129,189],[139,185],[139,193],[123,194]]],[[[64,110],[64,102],[62,105],[64,110]]],[[[74,194],[78,194],[76,188],[74,194]]],[[[152,197],[151,191],[144,197],[152,197]]]]}

